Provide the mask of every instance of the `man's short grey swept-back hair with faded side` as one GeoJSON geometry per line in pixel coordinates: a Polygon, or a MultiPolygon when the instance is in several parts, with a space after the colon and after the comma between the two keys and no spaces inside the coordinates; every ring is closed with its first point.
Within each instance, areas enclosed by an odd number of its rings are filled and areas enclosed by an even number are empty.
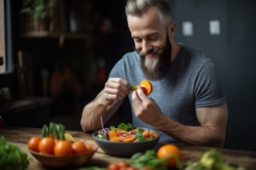
{"type": "Polygon", "coordinates": [[[161,22],[169,26],[172,21],[172,16],[167,0],[128,0],[125,6],[125,13],[126,16],[142,16],[152,7],[157,8],[161,22]]]}

